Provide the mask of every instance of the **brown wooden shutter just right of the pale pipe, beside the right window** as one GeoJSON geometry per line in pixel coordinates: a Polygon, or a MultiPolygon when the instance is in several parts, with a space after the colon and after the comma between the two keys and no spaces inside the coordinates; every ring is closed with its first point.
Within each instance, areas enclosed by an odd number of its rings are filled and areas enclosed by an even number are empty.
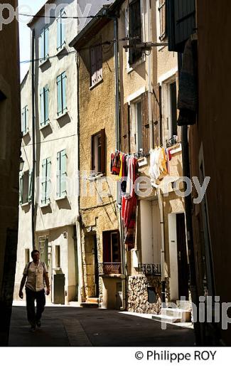
{"type": "Polygon", "coordinates": [[[154,86],[153,90],[153,122],[154,122],[154,147],[162,144],[161,134],[161,97],[159,83],[154,86]]]}

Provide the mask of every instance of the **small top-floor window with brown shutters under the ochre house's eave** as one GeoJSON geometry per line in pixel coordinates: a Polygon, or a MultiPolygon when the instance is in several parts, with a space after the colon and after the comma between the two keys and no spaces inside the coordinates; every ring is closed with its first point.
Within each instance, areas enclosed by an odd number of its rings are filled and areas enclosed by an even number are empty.
{"type": "Polygon", "coordinates": [[[91,60],[90,86],[93,87],[102,80],[101,45],[92,46],[92,48],[90,48],[90,60],[91,60]]]}

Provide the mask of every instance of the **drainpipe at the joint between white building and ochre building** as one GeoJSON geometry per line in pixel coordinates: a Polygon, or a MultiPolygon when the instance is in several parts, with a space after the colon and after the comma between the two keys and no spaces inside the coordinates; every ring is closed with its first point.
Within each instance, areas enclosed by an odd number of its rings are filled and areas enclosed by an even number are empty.
{"type": "Polygon", "coordinates": [[[77,224],[76,224],[76,236],[77,236],[77,263],[78,263],[78,274],[79,274],[79,291],[78,291],[78,302],[85,301],[85,290],[84,290],[84,276],[83,276],[83,265],[82,265],[82,236],[81,236],[81,215],[80,215],[80,56],[76,54],[76,66],[77,66],[77,224]]]}

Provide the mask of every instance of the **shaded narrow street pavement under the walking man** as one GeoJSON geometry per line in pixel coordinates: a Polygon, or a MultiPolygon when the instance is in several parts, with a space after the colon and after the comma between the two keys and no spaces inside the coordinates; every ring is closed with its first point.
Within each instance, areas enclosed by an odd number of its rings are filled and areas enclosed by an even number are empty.
{"type": "Polygon", "coordinates": [[[190,347],[193,329],[114,310],[46,307],[42,327],[29,331],[26,307],[13,307],[10,347],[190,347]]]}

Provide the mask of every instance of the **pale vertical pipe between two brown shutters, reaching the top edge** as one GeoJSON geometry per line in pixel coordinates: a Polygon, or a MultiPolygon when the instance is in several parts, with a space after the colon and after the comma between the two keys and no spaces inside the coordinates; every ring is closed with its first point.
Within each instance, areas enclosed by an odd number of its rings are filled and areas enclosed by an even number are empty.
{"type": "MultiPolygon", "coordinates": [[[[147,38],[148,42],[151,42],[151,14],[150,14],[150,0],[146,0],[146,13],[147,13],[147,38]]],[[[152,48],[148,58],[148,84],[149,84],[149,142],[150,149],[153,148],[154,142],[154,127],[152,125],[152,107],[151,107],[151,98],[152,98],[152,87],[151,87],[151,58],[152,58],[152,48]]]]}

